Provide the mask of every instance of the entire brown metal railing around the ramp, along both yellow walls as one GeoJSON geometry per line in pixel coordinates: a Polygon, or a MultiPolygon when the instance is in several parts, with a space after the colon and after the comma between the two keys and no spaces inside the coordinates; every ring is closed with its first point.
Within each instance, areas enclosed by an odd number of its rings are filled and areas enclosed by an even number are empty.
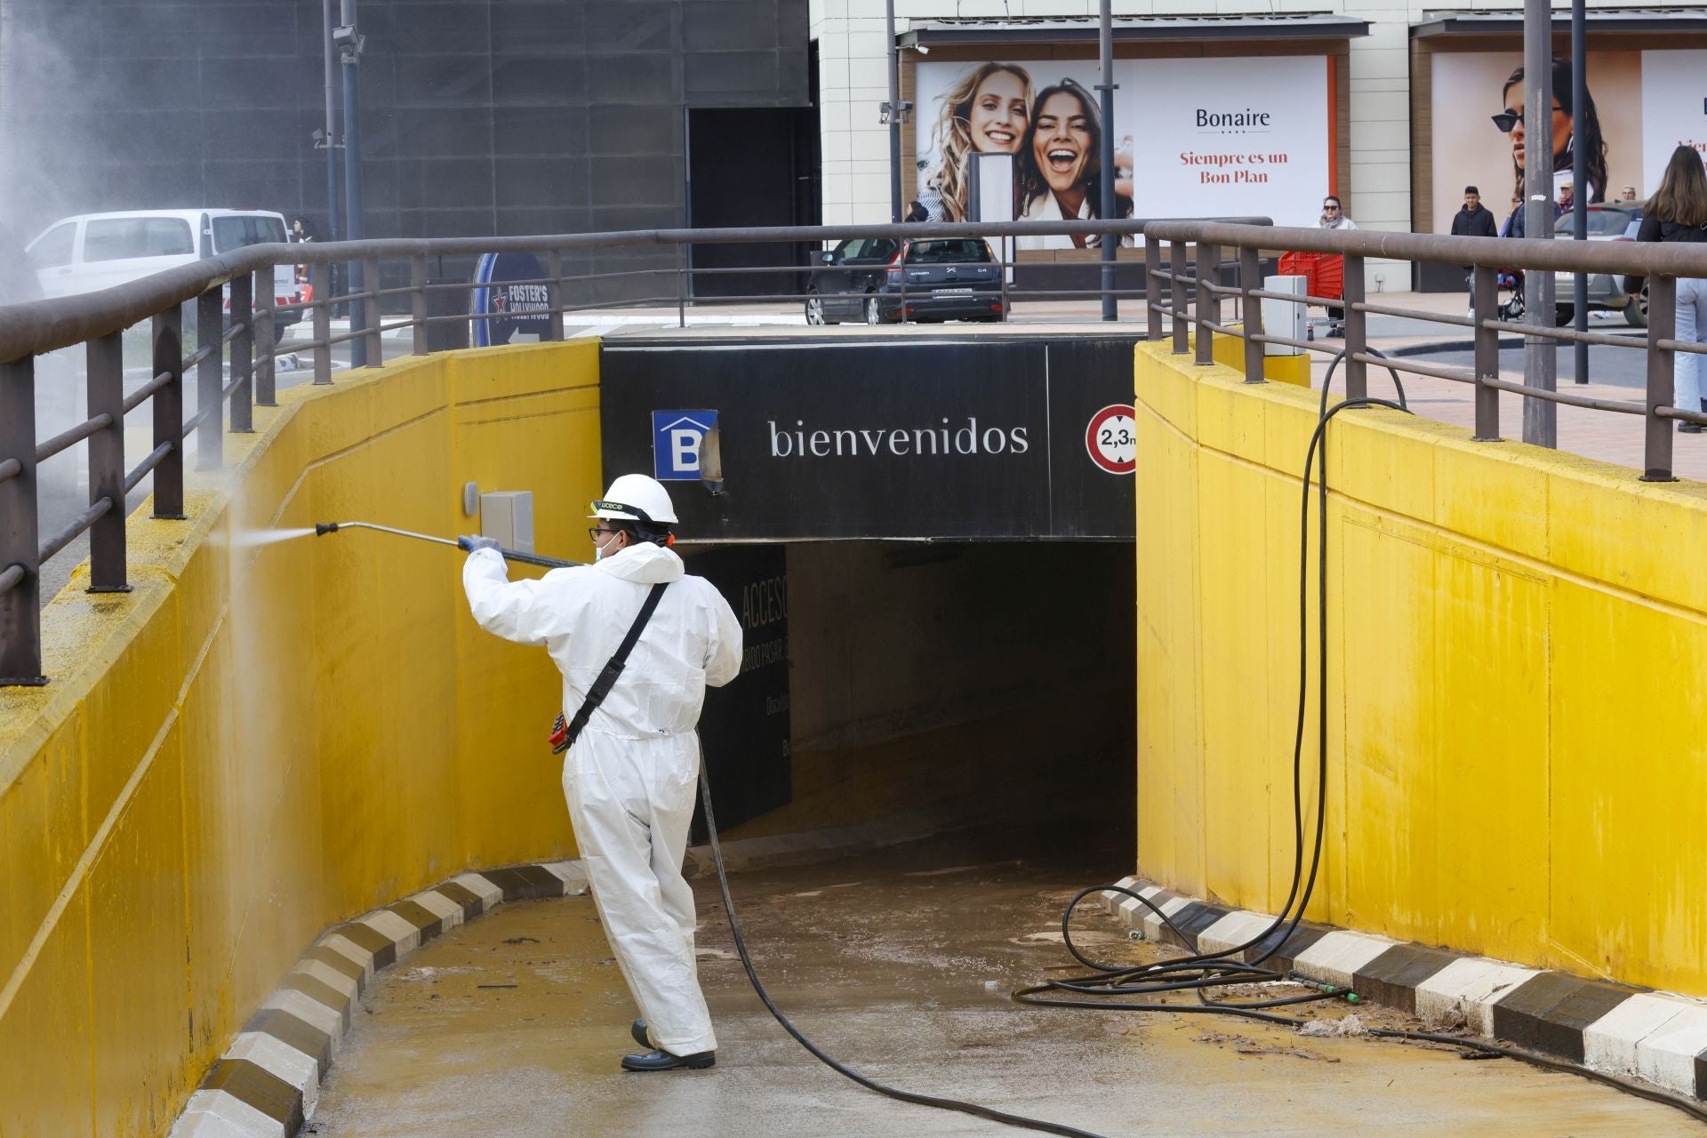
{"type": "MultiPolygon", "coordinates": [[[[96,293],[0,307],[0,684],[39,681],[39,565],[60,553],[77,536],[90,534],[92,587],[126,589],[125,568],[125,500],[152,478],[154,517],[183,517],[186,437],[196,435],[196,466],[215,469],[224,459],[225,432],[254,428],[254,406],[277,404],[275,358],[287,353],[312,355],[312,382],[331,384],[333,348],[345,343],[360,346],[367,365],[384,365],[384,336],[411,333],[413,351],[428,351],[430,331],[444,324],[497,321],[517,316],[543,316],[545,340],[565,336],[565,316],[597,314],[609,309],[654,305],[674,309],[676,322],[686,324],[688,305],[799,302],[799,287],[816,273],[819,278],[860,271],[883,273],[879,264],[766,264],[766,266],[693,266],[688,251],[700,244],[789,244],[807,246],[852,239],[941,239],[941,237],[1026,237],[1026,235],[1142,235],[1142,287],[1101,288],[1063,287],[1053,290],[1017,288],[1014,261],[993,259],[1000,312],[1014,302],[1075,300],[1094,297],[1132,297],[1144,300],[1142,319],[1151,340],[1162,340],[1171,321],[1174,351],[1191,351],[1197,333],[1197,362],[1214,358],[1214,336],[1243,336],[1244,379],[1263,382],[1267,345],[1292,345],[1311,351],[1338,351],[1330,345],[1297,341],[1265,333],[1263,300],[1292,304],[1333,304],[1345,307],[1345,380],[1349,394],[1360,394],[1369,365],[1395,367],[1420,375],[1436,375],[1471,384],[1477,399],[1477,438],[1499,437],[1502,391],[1599,411],[1642,415],[1647,420],[1649,454],[1646,478],[1669,478],[1671,420],[1698,421],[1707,415],[1669,406],[1669,369],[1676,351],[1707,351],[1675,340],[1675,328],[1664,316],[1671,304],[1675,278],[1707,276],[1707,246],[1654,246],[1632,242],[1598,242],[1591,247],[1567,242],[1512,242],[1478,237],[1441,237],[1429,234],[1383,234],[1372,230],[1304,230],[1275,229],[1267,218],[1231,220],[1086,220],[1086,222],[1017,222],[1017,224],[942,224],[942,225],[840,225],[775,229],[659,229],[613,234],[556,234],[536,237],[457,237],[439,241],[358,241],[341,244],[249,246],[232,254],[198,261],[155,276],[96,293]],[[1195,256],[1193,256],[1195,247],[1195,256]],[[594,264],[603,254],[647,254],[655,249],[673,263],[594,264]],[[1349,288],[1343,299],[1297,297],[1261,288],[1265,256],[1280,249],[1338,253],[1349,259],[1349,288]],[[527,312],[471,314],[435,312],[432,302],[446,293],[475,288],[473,283],[430,280],[428,258],[473,258],[483,253],[529,253],[541,256],[541,276],[521,285],[543,285],[545,302],[527,312]],[[1227,259],[1222,259],[1222,253],[1227,259]],[[1477,266],[1477,316],[1439,316],[1371,304],[1360,295],[1362,259],[1369,256],[1436,261],[1477,266]],[[353,292],[335,295],[329,266],[360,264],[353,292]],[[406,283],[384,278],[387,263],[406,266],[406,283]],[[273,280],[278,264],[307,264],[312,299],[280,297],[273,280]],[[587,271],[565,271],[568,264],[587,271]],[[1642,273],[1651,276],[1652,307],[1659,314],[1646,340],[1605,336],[1574,329],[1535,328],[1495,319],[1485,299],[1494,297],[1494,266],[1531,271],[1642,273]],[[674,275],[674,288],[664,280],[674,275]],[[778,280],[784,290],[763,293],[707,297],[695,282],[778,280]],[[645,282],[661,282],[647,287],[645,282]],[[1226,283],[1226,282],[1234,283],[1226,283]],[[637,287],[638,285],[638,287],[637,287]],[[650,295],[650,293],[657,295],[650,295]],[[620,293],[613,299],[613,293],[620,293]],[[647,295],[637,295],[647,293],[647,295]],[[229,297],[229,302],[227,302],[229,297]],[[1238,309],[1239,322],[1222,316],[1226,300],[1238,309]],[[280,302],[283,300],[283,302],[280,302]],[[198,346],[184,353],[181,305],[195,305],[198,346]],[[391,311],[396,305],[396,311],[391,311]],[[229,307],[229,316],[225,309],[229,307]],[[350,311],[358,317],[347,331],[333,331],[333,312],[350,311]],[[389,322],[382,317],[389,316],[389,322]],[[1381,358],[1367,345],[1367,316],[1434,319],[1441,324],[1468,326],[1477,336],[1477,363],[1468,372],[1425,363],[1381,358]],[[128,396],[123,392],[123,333],[150,321],[150,377],[128,396]],[[309,340],[275,343],[280,322],[306,321],[309,340]],[[1535,389],[1499,379],[1499,331],[1523,331],[1529,336],[1577,340],[1601,346],[1644,346],[1649,351],[1649,391],[1644,403],[1586,399],[1581,396],[1545,396],[1535,389]],[[89,418],[61,430],[48,440],[36,438],[32,357],[75,345],[87,345],[89,418]],[[229,357],[229,360],[227,360],[229,357]],[[195,375],[196,413],[184,418],[184,382],[195,375]],[[125,416],[143,404],[152,409],[154,437],[149,454],[126,469],[125,416]],[[229,423],[227,423],[229,415],[229,423]],[[1663,428],[1663,430],[1661,430],[1663,428]],[[38,539],[36,464],[87,442],[90,505],[50,541],[38,539]]],[[[1019,266],[1022,271],[1028,268],[1019,266]]],[[[1067,263],[1062,271],[1099,271],[1099,263],[1067,263]]],[[[1074,285],[1063,280],[1063,285],[1074,285]]],[[[910,314],[918,299],[917,285],[901,275],[898,293],[884,300],[884,316],[910,314]],[[893,307],[889,307],[893,305],[893,307]]]]}

